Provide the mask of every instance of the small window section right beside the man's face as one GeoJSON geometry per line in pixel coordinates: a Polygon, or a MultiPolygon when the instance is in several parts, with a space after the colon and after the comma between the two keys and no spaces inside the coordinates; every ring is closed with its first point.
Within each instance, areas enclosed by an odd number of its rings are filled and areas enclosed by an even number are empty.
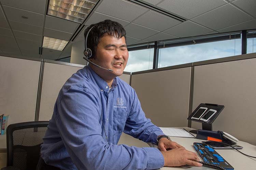
{"type": "Polygon", "coordinates": [[[136,72],[153,69],[153,59],[154,48],[129,51],[129,58],[124,71],[136,72]]]}

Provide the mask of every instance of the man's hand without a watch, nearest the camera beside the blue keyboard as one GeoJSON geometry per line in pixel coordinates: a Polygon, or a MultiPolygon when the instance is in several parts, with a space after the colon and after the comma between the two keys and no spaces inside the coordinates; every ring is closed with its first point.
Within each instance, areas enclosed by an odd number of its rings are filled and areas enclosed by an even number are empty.
{"type": "Polygon", "coordinates": [[[184,147],[172,149],[169,151],[161,151],[165,164],[163,166],[177,167],[182,165],[191,165],[201,167],[197,154],[186,150],[184,147]]]}

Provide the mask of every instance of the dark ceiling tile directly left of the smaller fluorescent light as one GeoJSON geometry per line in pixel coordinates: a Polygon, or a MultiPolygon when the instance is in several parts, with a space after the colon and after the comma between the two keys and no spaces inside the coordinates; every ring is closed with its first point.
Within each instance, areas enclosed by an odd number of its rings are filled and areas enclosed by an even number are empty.
{"type": "Polygon", "coordinates": [[[16,40],[20,50],[22,51],[22,54],[39,54],[39,47],[41,47],[41,43],[19,38],[16,38],[16,40]]]}

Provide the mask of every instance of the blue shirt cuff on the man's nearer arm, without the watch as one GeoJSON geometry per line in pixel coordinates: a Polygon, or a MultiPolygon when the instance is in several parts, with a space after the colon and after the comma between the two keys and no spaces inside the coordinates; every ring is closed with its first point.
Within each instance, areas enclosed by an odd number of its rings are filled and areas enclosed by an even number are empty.
{"type": "Polygon", "coordinates": [[[143,147],[148,155],[147,168],[146,169],[159,169],[165,164],[162,153],[157,148],[143,147]]]}

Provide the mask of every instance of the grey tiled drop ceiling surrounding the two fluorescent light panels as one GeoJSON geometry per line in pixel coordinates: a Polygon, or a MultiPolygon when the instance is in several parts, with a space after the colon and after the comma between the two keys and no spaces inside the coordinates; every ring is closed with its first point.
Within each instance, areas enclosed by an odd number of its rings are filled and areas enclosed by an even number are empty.
{"type": "Polygon", "coordinates": [[[95,12],[80,24],[46,15],[48,0],[0,0],[0,55],[49,60],[70,56],[72,43],[84,40],[84,29],[81,28],[105,19],[117,21],[125,27],[127,45],[256,29],[255,0],[141,2],[169,15],[128,0],[100,0],[95,12]],[[170,15],[181,19],[174,19],[170,15]],[[70,42],[63,51],[43,48],[40,55],[43,36],[70,42]]]}

